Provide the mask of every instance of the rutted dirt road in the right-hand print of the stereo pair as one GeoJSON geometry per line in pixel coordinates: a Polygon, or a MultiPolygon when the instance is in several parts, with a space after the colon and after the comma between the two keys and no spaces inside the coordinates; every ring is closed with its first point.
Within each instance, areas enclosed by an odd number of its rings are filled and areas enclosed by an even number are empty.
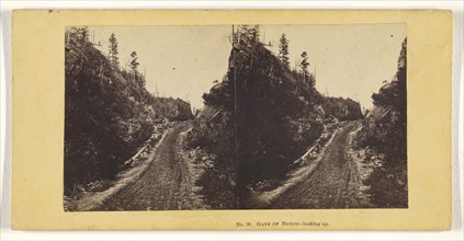
{"type": "Polygon", "coordinates": [[[317,169],[275,198],[271,208],[365,207],[358,169],[346,154],[348,135],[354,127],[353,124],[342,127],[327,147],[317,169]]]}

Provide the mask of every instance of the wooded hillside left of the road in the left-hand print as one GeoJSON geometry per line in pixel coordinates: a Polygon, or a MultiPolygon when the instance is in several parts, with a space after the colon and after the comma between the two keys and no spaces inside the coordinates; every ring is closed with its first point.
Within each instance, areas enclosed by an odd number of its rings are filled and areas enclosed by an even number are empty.
{"type": "Polygon", "coordinates": [[[65,194],[112,179],[156,124],[193,117],[182,100],[159,99],[145,77],[121,71],[88,41],[86,27],[67,31],[65,51],[65,194]]]}

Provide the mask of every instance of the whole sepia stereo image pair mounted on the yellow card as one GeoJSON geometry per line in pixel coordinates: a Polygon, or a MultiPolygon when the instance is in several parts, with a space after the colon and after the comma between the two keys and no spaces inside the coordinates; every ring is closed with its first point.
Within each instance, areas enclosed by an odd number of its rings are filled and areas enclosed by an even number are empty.
{"type": "Polygon", "coordinates": [[[404,23],[61,39],[65,211],[408,208],[404,23]]]}

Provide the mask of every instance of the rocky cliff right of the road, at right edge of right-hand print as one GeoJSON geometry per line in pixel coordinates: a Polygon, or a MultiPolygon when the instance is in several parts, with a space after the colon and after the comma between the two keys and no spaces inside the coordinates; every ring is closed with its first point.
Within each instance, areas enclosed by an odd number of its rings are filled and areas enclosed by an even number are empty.
{"type": "Polygon", "coordinates": [[[407,108],[406,39],[398,58],[394,79],[372,99],[374,107],[358,135],[362,148],[375,152],[366,162],[383,157],[367,179],[370,195],[377,207],[407,207],[407,108]]]}

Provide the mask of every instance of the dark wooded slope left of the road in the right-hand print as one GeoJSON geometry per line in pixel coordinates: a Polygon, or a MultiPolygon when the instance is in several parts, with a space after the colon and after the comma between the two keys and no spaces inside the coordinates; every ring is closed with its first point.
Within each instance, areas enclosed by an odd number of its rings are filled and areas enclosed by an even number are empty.
{"type": "Polygon", "coordinates": [[[284,175],[317,139],[322,124],[314,110],[321,96],[260,43],[240,45],[234,54],[228,79],[238,89],[237,161],[248,185],[284,175]]]}

